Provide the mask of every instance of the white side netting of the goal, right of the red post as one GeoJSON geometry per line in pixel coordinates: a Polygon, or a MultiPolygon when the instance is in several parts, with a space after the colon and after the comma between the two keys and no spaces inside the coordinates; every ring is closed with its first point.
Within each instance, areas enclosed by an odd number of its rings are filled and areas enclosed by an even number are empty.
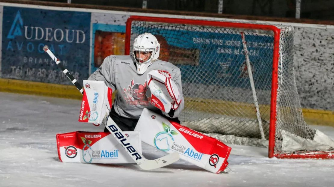
{"type": "Polygon", "coordinates": [[[285,130],[307,139],[313,139],[315,133],[304,121],[298,96],[293,68],[293,35],[293,27],[281,29],[275,152],[281,151],[282,135],[280,130],[285,130]]]}

